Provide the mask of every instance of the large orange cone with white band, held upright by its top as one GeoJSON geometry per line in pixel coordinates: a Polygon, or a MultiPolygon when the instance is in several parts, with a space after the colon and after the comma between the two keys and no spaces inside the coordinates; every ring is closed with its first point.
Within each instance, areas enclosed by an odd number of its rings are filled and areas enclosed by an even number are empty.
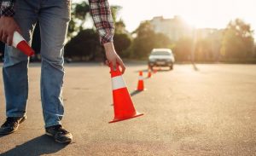
{"type": "Polygon", "coordinates": [[[116,71],[113,71],[113,66],[110,65],[112,90],[113,90],[113,110],[114,118],[109,123],[119,122],[129,118],[142,116],[143,113],[137,113],[131,101],[122,73],[117,65],[116,71]]]}

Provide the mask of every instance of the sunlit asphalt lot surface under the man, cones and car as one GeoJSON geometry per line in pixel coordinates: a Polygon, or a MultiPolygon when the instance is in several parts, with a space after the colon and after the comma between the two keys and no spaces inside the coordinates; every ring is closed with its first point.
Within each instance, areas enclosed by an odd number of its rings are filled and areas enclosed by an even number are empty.
{"type": "MultiPolygon", "coordinates": [[[[2,67],[3,65],[0,65],[2,67]]],[[[135,94],[138,71],[128,64],[124,78],[142,117],[113,119],[108,67],[69,64],[64,84],[63,125],[73,133],[69,145],[44,135],[39,95],[39,64],[29,70],[27,120],[20,130],[0,136],[0,155],[256,155],[256,66],[176,65],[144,79],[135,94]]],[[[0,73],[0,120],[5,118],[0,73]]]]}

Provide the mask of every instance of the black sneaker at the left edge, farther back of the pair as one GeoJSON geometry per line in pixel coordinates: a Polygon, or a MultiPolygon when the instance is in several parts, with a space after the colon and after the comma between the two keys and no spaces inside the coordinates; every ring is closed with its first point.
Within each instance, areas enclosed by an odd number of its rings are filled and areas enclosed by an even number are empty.
{"type": "Polygon", "coordinates": [[[20,123],[25,121],[25,117],[9,117],[6,118],[5,123],[0,127],[0,135],[9,135],[18,130],[20,123]]]}

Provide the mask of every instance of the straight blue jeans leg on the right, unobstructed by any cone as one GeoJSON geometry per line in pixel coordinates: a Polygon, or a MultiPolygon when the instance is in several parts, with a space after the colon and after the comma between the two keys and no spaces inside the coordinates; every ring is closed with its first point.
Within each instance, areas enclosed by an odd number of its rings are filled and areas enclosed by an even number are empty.
{"type": "Polygon", "coordinates": [[[64,42],[70,20],[70,1],[45,1],[39,13],[41,32],[41,99],[45,127],[61,124],[64,42]]]}

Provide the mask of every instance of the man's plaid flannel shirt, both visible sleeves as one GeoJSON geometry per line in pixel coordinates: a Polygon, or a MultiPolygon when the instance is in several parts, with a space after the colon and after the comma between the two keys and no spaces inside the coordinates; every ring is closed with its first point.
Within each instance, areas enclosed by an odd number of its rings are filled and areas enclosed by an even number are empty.
{"type": "MultiPolygon", "coordinates": [[[[113,17],[108,0],[89,0],[90,14],[100,35],[101,43],[113,42],[113,17]]],[[[14,16],[15,0],[0,0],[0,15],[14,16]]]]}

